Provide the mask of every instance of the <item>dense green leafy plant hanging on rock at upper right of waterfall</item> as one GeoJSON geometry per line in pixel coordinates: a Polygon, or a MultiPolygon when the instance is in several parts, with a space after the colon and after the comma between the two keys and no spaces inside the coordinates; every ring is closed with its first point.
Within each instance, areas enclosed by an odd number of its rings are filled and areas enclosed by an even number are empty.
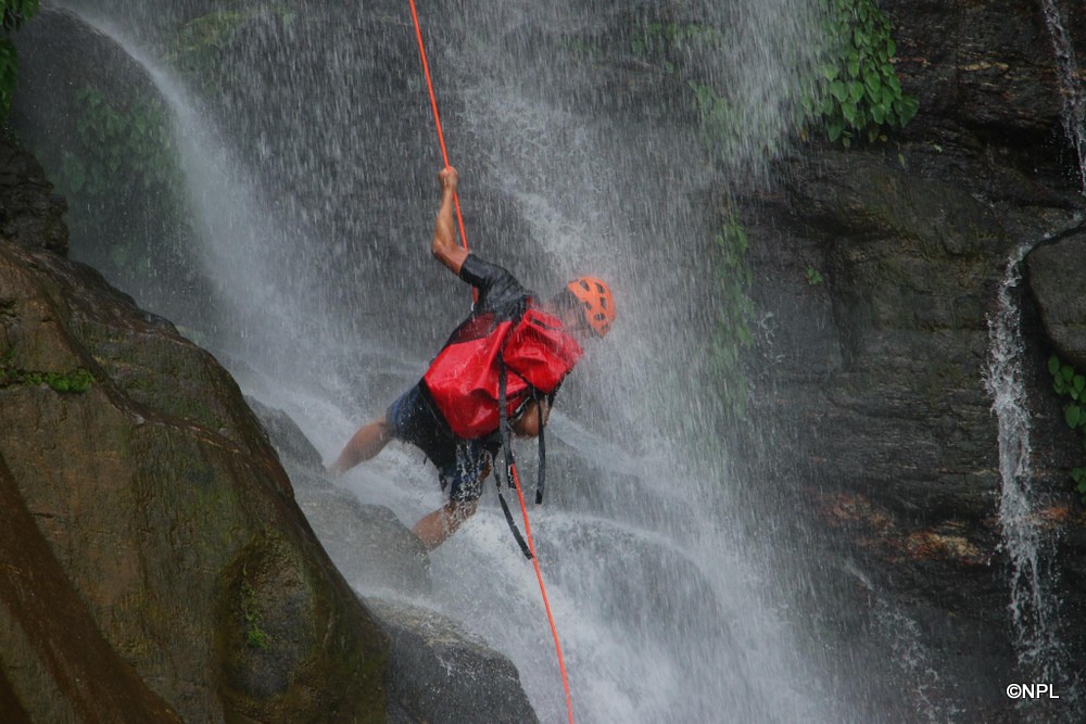
{"type": "Polygon", "coordinates": [[[919,102],[901,92],[893,64],[897,46],[875,0],[833,0],[829,34],[819,68],[824,93],[812,111],[830,140],[847,147],[856,137],[874,141],[885,129],[905,128],[919,102]]]}

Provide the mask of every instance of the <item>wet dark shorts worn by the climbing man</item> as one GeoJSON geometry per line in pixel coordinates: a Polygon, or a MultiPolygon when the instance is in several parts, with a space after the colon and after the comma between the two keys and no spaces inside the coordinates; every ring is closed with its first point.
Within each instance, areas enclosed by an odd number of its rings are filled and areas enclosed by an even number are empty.
{"type": "Polygon", "coordinates": [[[438,469],[441,488],[449,487],[451,500],[478,500],[482,478],[497,453],[497,435],[460,440],[434,410],[421,381],[389,405],[384,419],[396,440],[415,445],[438,469]]]}

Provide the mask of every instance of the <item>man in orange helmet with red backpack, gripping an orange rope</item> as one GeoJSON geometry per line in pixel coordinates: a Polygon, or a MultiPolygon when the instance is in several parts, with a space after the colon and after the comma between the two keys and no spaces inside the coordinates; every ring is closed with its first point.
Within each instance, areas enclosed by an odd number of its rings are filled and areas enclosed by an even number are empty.
{"type": "Polygon", "coordinates": [[[331,474],[342,474],[393,439],[421,448],[438,468],[442,488],[449,487],[449,503],[413,529],[428,550],[478,507],[483,480],[501,447],[497,401],[507,399],[515,434],[536,436],[561,379],[581,356],[579,342],[602,338],[615,320],[610,290],[597,279],[577,279],[538,304],[512,274],[459,246],[453,232],[456,169],[442,169],[438,179],[441,205],[431,250],[476,288],[478,300],[418,384],[383,417],[359,429],[328,468],[331,474]]]}

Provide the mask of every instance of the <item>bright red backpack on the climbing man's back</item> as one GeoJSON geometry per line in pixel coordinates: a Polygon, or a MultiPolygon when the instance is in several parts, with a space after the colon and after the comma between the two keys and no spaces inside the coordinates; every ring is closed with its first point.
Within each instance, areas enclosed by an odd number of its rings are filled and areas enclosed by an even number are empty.
{"type": "Polygon", "coordinates": [[[462,325],[422,382],[452,431],[472,440],[498,428],[503,364],[506,415],[513,417],[533,392],[557,390],[582,354],[556,317],[529,302],[519,319],[495,322],[489,313],[462,325]]]}

